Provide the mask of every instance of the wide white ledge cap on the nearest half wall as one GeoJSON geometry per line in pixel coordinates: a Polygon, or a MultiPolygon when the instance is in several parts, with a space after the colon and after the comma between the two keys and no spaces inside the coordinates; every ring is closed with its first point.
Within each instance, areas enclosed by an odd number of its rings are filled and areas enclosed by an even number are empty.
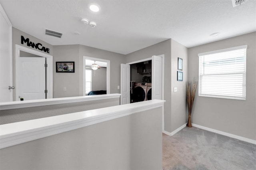
{"type": "Polygon", "coordinates": [[[0,125],[0,148],[163,107],[164,102],[164,100],[142,101],[0,125]]]}

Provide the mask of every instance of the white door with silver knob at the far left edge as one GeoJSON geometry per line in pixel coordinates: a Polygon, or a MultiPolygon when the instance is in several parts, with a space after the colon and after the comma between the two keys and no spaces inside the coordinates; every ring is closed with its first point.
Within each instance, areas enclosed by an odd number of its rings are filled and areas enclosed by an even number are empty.
{"type": "MultiPolygon", "coordinates": [[[[12,101],[12,25],[0,4],[0,102],[12,101]]],[[[12,87],[14,88],[14,87],[12,87]]]]}

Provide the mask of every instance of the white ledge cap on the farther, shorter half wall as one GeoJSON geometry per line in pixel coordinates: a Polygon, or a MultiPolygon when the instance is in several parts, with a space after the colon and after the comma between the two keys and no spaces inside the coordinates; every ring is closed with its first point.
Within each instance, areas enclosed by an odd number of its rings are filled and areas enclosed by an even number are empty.
{"type": "Polygon", "coordinates": [[[46,105],[58,105],[65,103],[75,103],[83,101],[94,101],[102,99],[119,98],[121,94],[107,94],[107,95],[91,95],[91,96],[77,96],[77,97],[62,97],[53,99],[38,99],[38,100],[27,100],[27,101],[11,101],[0,103],[0,111],[9,109],[20,109],[26,107],[38,107],[46,105]]]}

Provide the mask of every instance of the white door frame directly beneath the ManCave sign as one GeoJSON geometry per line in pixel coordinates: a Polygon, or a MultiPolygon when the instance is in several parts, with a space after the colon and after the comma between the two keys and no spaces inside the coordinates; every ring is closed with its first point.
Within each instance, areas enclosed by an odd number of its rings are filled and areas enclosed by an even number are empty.
{"type": "Polygon", "coordinates": [[[19,100],[19,93],[18,93],[18,59],[20,57],[20,51],[25,51],[27,53],[32,53],[34,55],[39,55],[40,57],[45,57],[46,58],[46,98],[51,99],[53,97],[53,56],[49,54],[45,54],[27,47],[23,47],[21,45],[16,44],[15,45],[15,64],[16,64],[16,101],[19,100]]]}

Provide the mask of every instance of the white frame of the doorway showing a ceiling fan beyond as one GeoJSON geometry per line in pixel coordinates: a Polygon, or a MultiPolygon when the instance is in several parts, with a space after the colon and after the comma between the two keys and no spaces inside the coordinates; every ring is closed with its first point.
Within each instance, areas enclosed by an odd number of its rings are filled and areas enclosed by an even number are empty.
{"type": "Polygon", "coordinates": [[[94,57],[83,57],[83,95],[85,96],[85,59],[90,59],[93,61],[101,61],[107,63],[107,94],[110,94],[110,60],[107,59],[100,59],[100,58],[94,58],[94,57]]]}

